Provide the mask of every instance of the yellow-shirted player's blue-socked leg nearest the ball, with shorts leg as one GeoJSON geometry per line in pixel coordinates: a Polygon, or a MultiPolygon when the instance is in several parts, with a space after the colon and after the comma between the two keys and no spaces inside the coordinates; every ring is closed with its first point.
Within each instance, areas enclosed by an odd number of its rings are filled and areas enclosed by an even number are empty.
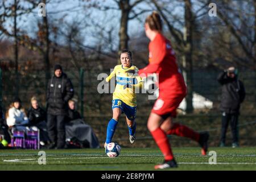
{"type": "Polygon", "coordinates": [[[107,133],[106,133],[106,142],[104,144],[104,147],[106,147],[106,144],[112,142],[112,138],[115,133],[115,128],[118,124],[118,119],[120,115],[122,114],[122,101],[120,100],[113,100],[112,101],[112,109],[113,109],[113,118],[110,119],[107,127],[107,133]]]}

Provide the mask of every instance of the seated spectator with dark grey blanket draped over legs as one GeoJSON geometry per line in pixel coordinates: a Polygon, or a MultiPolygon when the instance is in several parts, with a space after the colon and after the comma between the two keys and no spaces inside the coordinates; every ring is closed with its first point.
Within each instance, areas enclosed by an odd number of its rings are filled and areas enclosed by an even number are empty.
{"type": "Polygon", "coordinates": [[[99,148],[98,139],[94,134],[92,127],[85,124],[78,111],[76,111],[75,101],[68,101],[68,116],[65,124],[66,140],[77,139],[82,147],[99,148]],[[86,144],[85,144],[86,143],[86,144]]]}

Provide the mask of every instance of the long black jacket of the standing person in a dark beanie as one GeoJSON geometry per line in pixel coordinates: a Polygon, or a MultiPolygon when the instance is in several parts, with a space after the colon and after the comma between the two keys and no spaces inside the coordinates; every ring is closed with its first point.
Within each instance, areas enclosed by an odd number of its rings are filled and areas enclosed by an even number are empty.
{"type": "Polygon", "coordinates": [[[47,114],[66,115],[68,100],[73,97],[74,90],[71,80],[65,73],[61,77],[52,76],[47,88],[47,114]]]}

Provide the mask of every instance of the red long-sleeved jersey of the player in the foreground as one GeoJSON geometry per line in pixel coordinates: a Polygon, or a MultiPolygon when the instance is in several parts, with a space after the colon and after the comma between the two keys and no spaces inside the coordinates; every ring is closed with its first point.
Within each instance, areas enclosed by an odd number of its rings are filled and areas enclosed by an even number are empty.
{"type": "Polygon", "coordinates": [[[186,94],[186,86],[181,71],[177,66],[175,52],[171,43],[162,34],[157,34],[148,46],[149,62],[142,73],[159,73],[159,96],[176,97],[186,94]]]}

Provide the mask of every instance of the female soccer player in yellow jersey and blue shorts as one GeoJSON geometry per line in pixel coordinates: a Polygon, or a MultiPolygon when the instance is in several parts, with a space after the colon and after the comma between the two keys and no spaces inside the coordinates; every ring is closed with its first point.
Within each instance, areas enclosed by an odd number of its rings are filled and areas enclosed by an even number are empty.
{"type": "Polygon", "coordinates": [[[131,63],[131,56],[131,51],[123,49],[120,53],[121,64],[116,65],[114,71],[106,78],[106,81],[109,82],[115,76],[117,85],[115,85],[113,93],[113,118],[108,123],[105,148],[108,143],[112,142],[118,119],[122,113],[126,115],[130,143],[133,144],[135,142],[135,117],[137,109],[135,87],[141,88],[142,78],[134,75],[135,72],[138,72],[138,68],[131,63]]]}

